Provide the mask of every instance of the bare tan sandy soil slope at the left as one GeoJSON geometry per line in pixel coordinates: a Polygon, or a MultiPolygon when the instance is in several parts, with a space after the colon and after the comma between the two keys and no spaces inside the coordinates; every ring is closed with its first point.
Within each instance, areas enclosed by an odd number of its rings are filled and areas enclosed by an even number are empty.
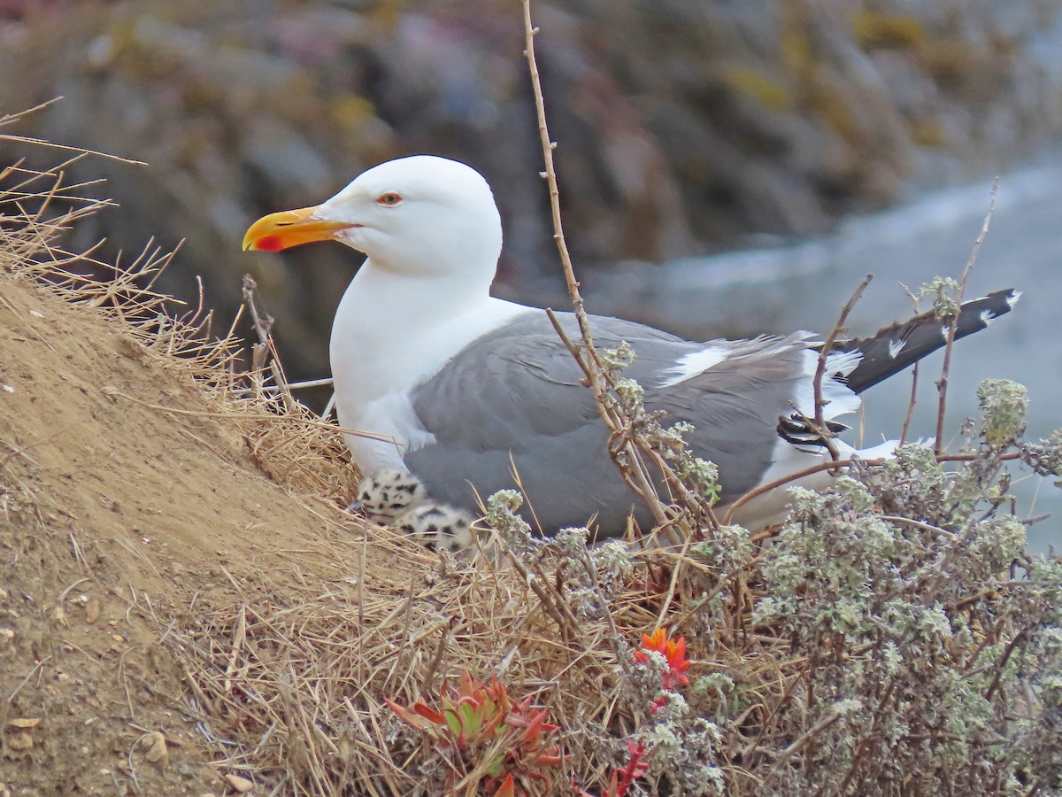
{"type": "Polygon", "coordinates": [[[159,642],[196,601],[253,600],[322,518],[216,410],[114,322],[0,274],[3,797],[233,793],[159,642]]]}

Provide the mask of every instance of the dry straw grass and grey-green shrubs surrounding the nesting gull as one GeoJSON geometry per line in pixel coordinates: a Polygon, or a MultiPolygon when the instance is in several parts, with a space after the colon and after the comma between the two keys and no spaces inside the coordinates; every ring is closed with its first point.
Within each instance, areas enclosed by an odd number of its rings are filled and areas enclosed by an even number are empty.
{"type": "Polygon", "coordinates": [[[62,171],[3,173],[3,271],[191,373],[322,521],[261,578],[153,607],[219,765],[276,793],[438,793],[462,762],[384,700],[431,701],[467,669],[548,709],[561,791],[607,788],[639,745],[632,795],[1058,793],[1062,564],[1025,553],[1001,479],[1018,456],[1058,474],[1062,454],[1057,438],[1020,442],[1013,386],[986,388],[957,470],[908,446],[799,493],[771,533],[587,549],[579,530],[534,540],[502,494],[473,565],[344,521],[356,473],[337,428],[241,372],[239,341],[202,307],[173,313],[151,288],[167,255],[117,268],[64,252],[63,232],[106,203],[62,171]],[[110,276],[84,276],[88,262],[110,276]],[[636,660],[657,627],[685,638],[688,685],[656,654],[636,660]]]}

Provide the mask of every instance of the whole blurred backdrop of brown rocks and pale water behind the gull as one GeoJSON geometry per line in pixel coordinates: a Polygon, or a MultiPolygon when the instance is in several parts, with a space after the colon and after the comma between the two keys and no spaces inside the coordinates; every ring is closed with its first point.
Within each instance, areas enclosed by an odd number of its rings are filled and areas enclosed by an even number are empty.
{"type": "MultiPolygon", "coordinates": [[[[961,271],[983,181],[1004,174],[971,291],[1026,298],[957,355],[950,420],[976,412],[979,378],[1006,376],[1032,391],[1031,437],[1060,425],[1062,0],[535,0],[534,13],[592,310],[702,338],[825,330],[875,271],[850,324],[864,334],[908,311],[897,281],[961,271]]],[[[358,256],[240,241],[259,216],[388,158],[479,169],[506,227],[496,292],[566,306],[523,48],[516,0],[0,0],[0,115],[63,96],[4,132],[148,162],[71,167],[105,175],[99,193],[120,203],[74,245],[106,237],[103,256],[127,259],[153,236],[184,240],[161,288],[193,301],[202,275],[223,325],[253,273],[289,375],[316,377],[358,256]]],[[[0,140],[0,163],[20,156],[42,154],[0,140]]],[[[917,434],[932,428],[931,380],[917,434]]],[[[909,390],[868,395],[869,439],[896,434],[909,390]]],[[[1027,506],[1062,514],[1040,487],[1026,480],[1027,506]]],[[[1041,547],[1062,542],[1049,524],[1041,547]]]]}

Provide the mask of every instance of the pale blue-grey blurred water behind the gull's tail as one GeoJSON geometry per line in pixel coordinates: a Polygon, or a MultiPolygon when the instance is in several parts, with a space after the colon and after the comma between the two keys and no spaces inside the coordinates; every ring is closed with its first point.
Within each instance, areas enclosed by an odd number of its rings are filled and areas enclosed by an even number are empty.
{"type": "MultiPolygon", "coordinates": [[[[866,335],[910,315],[910,300],[898,283],[917,290],[935,275],[961,274],[991,193],[990,183],[947,189],[900,209],[849,221],[821,239],[657,267],[632,264],[600,283],[586,281],[586,295],[595,312],[633,318],[695,339],[798,328],[824,335],[871,272],[875,279],[847,324],[851,334],[866,335]]],[[[964,416],[976,417],[975,391],[986,377],[1028,387],[1028,439],[1062,426],[1060,165],[1015,172],[999,182],[990,232],[978,251],[966,298],[1010,287],[1023,291],[1014,310],[956,344],[947,394],[950,434],[957,433],[964,416]]],[[[937,354],[922,366],[911,437],[933,434],[933,380],[941,360],[937,354]]],[[[910,390],[909,376],[898,375],[864,394],[867,444],[898,435],[910,390]]],[[[1014,476],[1020,511],[1026,516],[1051,513],[1030,529],[1033,549],[1062,549],[1062,490],[1027,470],[1014,476]]]]}

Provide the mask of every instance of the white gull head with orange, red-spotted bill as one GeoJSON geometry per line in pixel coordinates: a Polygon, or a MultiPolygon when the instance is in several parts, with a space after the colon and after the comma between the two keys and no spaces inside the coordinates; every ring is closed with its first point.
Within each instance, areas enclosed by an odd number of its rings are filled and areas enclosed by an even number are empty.
{"type": "Polygon", "coordinates": [[[434,155],[380,164],[314,207],[256,221],[244,250],[277,252],[338,240],[373,267],[417,278],[494,278],[501,220],[491,187],[469,166],[434,155]]]}

